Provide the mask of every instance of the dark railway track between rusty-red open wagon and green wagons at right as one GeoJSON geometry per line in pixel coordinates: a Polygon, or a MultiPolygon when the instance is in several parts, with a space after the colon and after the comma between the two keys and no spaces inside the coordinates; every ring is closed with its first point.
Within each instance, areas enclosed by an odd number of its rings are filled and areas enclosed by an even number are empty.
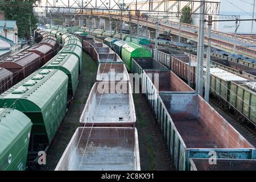
{"type": "Polygon", "coordinates": [[[239,133],[243,135],[253,146],[256,146],[256,130],[252,129],[247,123],[239,121],[229,110],[218,106],[217,101],[210,98],[209,104],[228,121],[239,133]]]}

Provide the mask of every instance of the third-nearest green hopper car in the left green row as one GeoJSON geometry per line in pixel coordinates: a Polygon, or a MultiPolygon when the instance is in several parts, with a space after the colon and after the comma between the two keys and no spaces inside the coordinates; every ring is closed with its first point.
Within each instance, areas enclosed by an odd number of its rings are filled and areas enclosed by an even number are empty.
{"type": "Polygon", "coordinates": [[[59,69],[68,76],[68,96],[74,96],[79,82],[79,59],[71,53],[58,54],[41,69],[59,69]]]}

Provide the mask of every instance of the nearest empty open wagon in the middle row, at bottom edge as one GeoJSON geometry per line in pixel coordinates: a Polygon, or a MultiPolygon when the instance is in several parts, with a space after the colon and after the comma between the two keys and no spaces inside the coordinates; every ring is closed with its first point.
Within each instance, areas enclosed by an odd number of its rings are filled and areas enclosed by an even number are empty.
{"type": "Polygon", "coordinates": [[[55,171],[73,170],[140,171],[137,129],[77,128],[55,168],[55,171]],[[90,143],[86,145],[88,139],[90,143]]]}

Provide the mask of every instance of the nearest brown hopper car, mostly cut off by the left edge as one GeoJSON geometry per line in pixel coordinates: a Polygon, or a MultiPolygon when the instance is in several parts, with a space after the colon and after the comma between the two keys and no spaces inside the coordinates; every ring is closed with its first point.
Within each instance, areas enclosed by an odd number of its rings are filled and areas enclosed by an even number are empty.
{"type": "Polygon", "coordinates": [[[0,68],[0,94],[13,85],[13,72],[0,68]]]}

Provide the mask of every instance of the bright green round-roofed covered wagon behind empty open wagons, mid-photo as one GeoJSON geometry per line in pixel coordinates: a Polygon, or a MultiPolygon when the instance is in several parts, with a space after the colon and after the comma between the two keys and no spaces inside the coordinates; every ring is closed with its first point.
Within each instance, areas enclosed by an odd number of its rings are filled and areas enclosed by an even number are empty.
{"type": "Polygon", "coordinates": [[[122,46],[122,60],[129,71],[133,69],[133,58],[151,57],[151,52],[135,43],[127,43],[122,46]]]}

